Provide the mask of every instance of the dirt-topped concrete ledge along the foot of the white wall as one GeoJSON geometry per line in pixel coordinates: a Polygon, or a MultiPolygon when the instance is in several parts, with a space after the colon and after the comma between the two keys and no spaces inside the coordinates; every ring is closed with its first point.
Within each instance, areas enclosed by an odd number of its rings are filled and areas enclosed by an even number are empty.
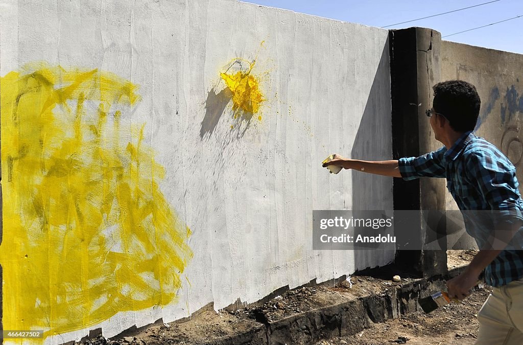
{"type": "MultiPolygon", "coordinates": [[[[416,278],[405,274],[403,283],[390,281],[394,266],[364,270],[336,286],[313,285],[287,291],[264,305],[234,311],[203,311],[186,322],[172,322],[128,337],[102,335],[82,339],[92,345],[237,345],[312,344],[321,339],[355,335],[374,324],[419,311],[418,298],[442,290],[445,280],[457,276],[460,266],[445,276],[416,278]],[[301,309],[301,310],[300,310],[301,309]]],[[[404,272],[403,272],[404,273],[404,272]]],[[[483,284],[483,283],[482,283],[483,284]]]]}

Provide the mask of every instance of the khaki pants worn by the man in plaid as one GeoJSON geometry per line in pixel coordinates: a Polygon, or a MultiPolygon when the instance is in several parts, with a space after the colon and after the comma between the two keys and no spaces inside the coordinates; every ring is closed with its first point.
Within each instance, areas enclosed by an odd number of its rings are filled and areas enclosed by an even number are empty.
{"type": "Polygon", "coordinates": [[[523,280],[495,287],[477,313],[476,345],[523,344],[523,280]]]}

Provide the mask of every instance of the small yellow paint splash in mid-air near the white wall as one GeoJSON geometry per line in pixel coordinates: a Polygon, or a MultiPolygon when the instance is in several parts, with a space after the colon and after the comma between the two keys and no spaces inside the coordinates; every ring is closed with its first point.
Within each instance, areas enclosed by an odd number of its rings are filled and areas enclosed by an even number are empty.
{"type": "MultiPolygon", "coordinates": [[[[249,62],[243,59],[234,59],[230,67],[235,63],[241,64],[242,62],[248,63],[249,68],[247,71],[240,70],[236,73],[228,73],[226,71],[220,73],[220,75],[232,93],[234,118],[243,116],[246,119],[250,119],[259,112],[261,103],[266,101],[266,99],[261,93],[258,78],[251,73],[256,60],[249,62]]],[[[261,115],[258,116],[258,120],[261,120],[261,115]]]]}

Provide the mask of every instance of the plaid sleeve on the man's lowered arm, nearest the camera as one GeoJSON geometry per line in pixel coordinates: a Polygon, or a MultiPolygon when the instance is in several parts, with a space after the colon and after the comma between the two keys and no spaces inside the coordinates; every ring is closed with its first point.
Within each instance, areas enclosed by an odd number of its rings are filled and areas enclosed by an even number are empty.
{"type": "Polygon", "coordinates": [[[477,183],[480,193],[496,213],[499,220],[516,217],[523,220],[521,197],[518,192],[516,168],[498,152],[484,149],[472,152],[467,161],[467,174],[477,183]]]}

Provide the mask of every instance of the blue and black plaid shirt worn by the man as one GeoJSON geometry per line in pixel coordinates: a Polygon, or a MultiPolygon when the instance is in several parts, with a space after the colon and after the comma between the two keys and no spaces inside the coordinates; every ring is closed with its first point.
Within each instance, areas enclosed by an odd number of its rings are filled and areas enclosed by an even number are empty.
{"type": "MultiPolygon", "coordinates": [[[[493,144],[471,131],[464,133],[448,150],[442,147],[417,158],[401,158],[398,164],[401,176],[407,181],[419,177],[445,177],[447,188],[462,211],[497,210],[495,222],[509,222],[511,217],[523,219],[516,168],[493,144]]],[[[481,248],[492,227],[467,220],[465,218],[465,228],[481,248]]],[[[522,236],[523,228],[514,237],[515,246],[511,248],[515,250],[503,250],[485,268],[488,285],[501,286],[521,279],[522,236]]]]}

